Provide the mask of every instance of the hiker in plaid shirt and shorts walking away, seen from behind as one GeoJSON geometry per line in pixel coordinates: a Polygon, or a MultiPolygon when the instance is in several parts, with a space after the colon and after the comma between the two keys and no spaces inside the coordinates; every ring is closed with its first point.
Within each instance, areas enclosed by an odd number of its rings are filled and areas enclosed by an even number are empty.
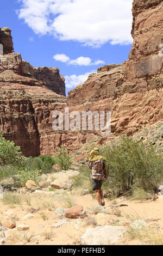
{"type": "Polygon", "coordinates": [[[104,206],[105,201],[103,197],[103,191],[101,189],[103,180],[108,175],[108,167],[104,157],[99,155],[99,149],[94,148],[87,154],[89,158],[89,169],[91,169],[92,190],[96,191],[96,198],[99,205],[104,206]]]}

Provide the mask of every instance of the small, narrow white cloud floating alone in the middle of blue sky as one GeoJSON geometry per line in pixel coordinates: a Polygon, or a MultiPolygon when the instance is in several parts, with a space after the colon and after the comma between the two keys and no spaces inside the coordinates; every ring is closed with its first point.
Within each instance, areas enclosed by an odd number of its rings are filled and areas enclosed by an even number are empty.
{"type": "Polygon", "coordinates": [[[96,62],[92,62],[89,57],[78,57],[77,59],[70,59],[70,57],[65,54],[55,54],[53,59],[67,63],[68,65],[78,65],[78,66],[91,66],[91,65],[99,65],[104,64],[103,60],[96,60],[96,62]]]}

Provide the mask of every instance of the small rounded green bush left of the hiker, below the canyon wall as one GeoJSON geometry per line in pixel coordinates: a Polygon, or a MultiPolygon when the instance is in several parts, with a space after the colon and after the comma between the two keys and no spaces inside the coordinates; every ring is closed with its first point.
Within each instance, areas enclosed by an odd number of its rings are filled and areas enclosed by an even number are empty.
{"type": "Polygon", "coordinates": [[[62,170],[68,170],[72,164],[72,156],[68,154],[67,149],[64,147],[58,147],[59,152],[55,154],[55,162],[60,166],[62,170]]]}

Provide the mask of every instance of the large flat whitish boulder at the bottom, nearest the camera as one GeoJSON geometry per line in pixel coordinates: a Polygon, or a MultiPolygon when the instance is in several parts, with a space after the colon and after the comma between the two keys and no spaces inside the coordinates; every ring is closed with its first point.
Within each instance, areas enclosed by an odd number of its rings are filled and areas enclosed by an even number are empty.
{"type": "Polygon", "coordinates": [[[121,226],[89,228],[81,237],[82,245],[112,245],[122,239],[127,229],[121,226]]]}

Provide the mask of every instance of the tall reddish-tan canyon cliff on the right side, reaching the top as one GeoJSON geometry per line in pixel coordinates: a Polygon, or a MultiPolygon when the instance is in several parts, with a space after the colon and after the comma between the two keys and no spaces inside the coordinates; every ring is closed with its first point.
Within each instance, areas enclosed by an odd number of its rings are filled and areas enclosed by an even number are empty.
{"type": "Polygon", "coordinates": [[[163,118],[163,2],[133,2],[129,59],[106,65],[69,92],[71,109],[110,110],[111,131],[134,132],[163,118]]]}

